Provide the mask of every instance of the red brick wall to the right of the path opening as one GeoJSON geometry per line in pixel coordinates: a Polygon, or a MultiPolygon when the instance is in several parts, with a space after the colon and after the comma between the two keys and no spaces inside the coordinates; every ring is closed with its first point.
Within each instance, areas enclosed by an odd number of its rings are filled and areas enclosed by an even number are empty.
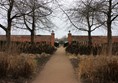
{"type": "MultiPolygon", "coordinates": [[[[69,44],[72,41],[78,41],[81,44],[88,44],[88,36],[79,36],[79,35],[72,35],[69,31],[68,33],[68,42],[69,44]]],[[[118,36],[112,37],[113,43],[118,43],[118,36]]],[[[92,36],[92,43],[93,45],[100,45],[107,43],[107,37],[106,36],[92,36]]]]}

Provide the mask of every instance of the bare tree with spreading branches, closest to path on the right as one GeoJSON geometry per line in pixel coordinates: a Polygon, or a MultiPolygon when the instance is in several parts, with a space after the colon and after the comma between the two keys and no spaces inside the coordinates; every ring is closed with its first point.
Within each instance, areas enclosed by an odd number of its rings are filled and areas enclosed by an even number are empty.
{"type": "Polygon", "coordinates": [[[92,37],[91,33],[102,26],[97,18],[97,9],[94,7],[94,0],[84,0],[76,1],[76,6],[64,11],[61,7],[61,10],[66,14],[70,23],[74,26],[75,29],[88,32],[88,46],[92,47],[92,37]]]}

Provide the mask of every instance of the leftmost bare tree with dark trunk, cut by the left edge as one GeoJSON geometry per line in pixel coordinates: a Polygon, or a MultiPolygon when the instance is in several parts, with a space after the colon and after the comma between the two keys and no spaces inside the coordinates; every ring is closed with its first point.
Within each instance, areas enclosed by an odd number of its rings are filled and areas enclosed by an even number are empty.
{"type": "Polygon", "coordinates": [[[16,18],[21,17],[21,14],[19,14],[15,8],[15,5],[19,0],[0,0],[0,10],[2,11],[0,13],[0,17],[3,18],[5,23],[1,21],[0,27],[6,32],[6,41],[8,44],[10,44],[11,38],[11,29],[13,26],[13,22],[16,18]]]}

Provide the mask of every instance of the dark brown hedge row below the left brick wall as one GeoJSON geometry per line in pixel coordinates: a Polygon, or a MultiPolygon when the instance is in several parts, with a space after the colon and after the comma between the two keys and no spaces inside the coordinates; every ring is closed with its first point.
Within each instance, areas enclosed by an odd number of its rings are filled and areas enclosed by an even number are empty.
{"type": "Polygon", "coordinates": [[[5,41],[0,41],[0,51],[10,51],[10,52],[19,52],[19,53],[33,53],[33,54],[53,54],[56,51],[56,48],[46,43],[34,43],[30,42],[11,42],[9,48],[5,41]]]}

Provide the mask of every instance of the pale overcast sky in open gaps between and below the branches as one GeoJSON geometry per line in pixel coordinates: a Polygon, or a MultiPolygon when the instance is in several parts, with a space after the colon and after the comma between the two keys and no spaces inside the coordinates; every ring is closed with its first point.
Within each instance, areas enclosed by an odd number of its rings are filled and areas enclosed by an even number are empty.
{"type": "MultiPolygon", "coordinates": [[[[72,2],[73,2],[73,0],[63,0],[63,1],[64,1],[63,4],[66,7],[72,5],[72,2]]],[[[68,31],[70,30],[70,29],[68,29],[67,22],[65,22],[65,20],[63,18],[64,16],[62,16],[62,14],[60,12],[61,12],[61,10],[56,11],[56,15],[55,15],[56,17],[52,19],[53,20],[53,23],[58,27],[58,28],[55,28],[54,29],[55,37],[56,38],[62,38],[64,36],[67,36],[68,35],[68,31]]],[[[118,35],[117,32],[118,32],[118,29],[113,29],[113,35],[118,35]]],[[[39,34],[40,35],[50,35],[51,34],[51,32],[42,31],[42,30],[37,31],[36,33],[37,33],[37,35],[39,35],[39,34]]],[[[82,32],[82,31],[73,31],[73,30],[71,30],[71,33],[73,35],[87,35],[86,32],[82,32]]],[[[0,35],[1,34],[3,35],[3,34],[5,34],[5,32],[0,28],[0,35]]],[[[28,31],[26,31],[26,30],[23,31],[23,30],[13,29],[12,30],[12,34],[13,35],[16,35],[16,34],[17,35],[21,35],[21,34],[23,34],[23,35],[29,35],[30,33],[28,31]]],[[[106,34],[107,34],[106,33],[106,30],[105,29],[102,29],[102,28],[101,29],[96,29],[92,33],[92,35],[106,35],[106,34]]]]}

